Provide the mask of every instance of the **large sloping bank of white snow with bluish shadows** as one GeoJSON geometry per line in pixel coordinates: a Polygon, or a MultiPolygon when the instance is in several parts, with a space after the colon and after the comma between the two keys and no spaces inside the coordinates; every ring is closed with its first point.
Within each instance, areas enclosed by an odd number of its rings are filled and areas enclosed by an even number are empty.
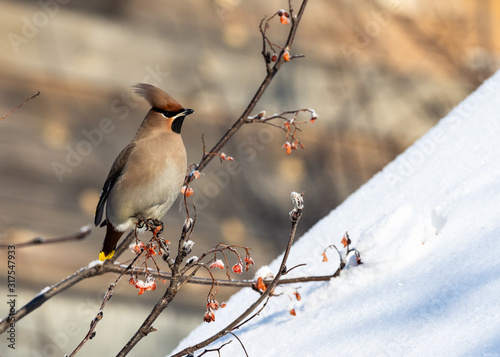
{"type": "MultiPolygon", "coordinates": [[[[287,277],[335,272],[335,250],[321,253],[346,231],[364,264],[297,284],[301,301],[281,289],[234,331],[249,356],[500,356],[499,99],[500,72],[294,244],[287,266],[307,265],[287,277]]],[[[173,352],[257,297],[239,291],[173,352]]],[[[245,355],[238,341],[220,352],[245,355]]]]}

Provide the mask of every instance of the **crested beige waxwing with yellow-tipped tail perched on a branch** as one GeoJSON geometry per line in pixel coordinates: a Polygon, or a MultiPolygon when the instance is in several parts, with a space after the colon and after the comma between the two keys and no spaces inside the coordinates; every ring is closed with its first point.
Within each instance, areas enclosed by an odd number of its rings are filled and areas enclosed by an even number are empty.
{"type": "Polygon", "coordinates": [[[167,213],[181,190],[187,169],[181,127],[194,110],[184,109],[150,84],[140,83],[133,88],[151,109],[111,166],[99,196],[94,223],[106,225],[101,261],[113,256],[128,228],[143,219],[160,220],[167,213]],[[106,219],[102,221],[105,204],[106,219]]]}

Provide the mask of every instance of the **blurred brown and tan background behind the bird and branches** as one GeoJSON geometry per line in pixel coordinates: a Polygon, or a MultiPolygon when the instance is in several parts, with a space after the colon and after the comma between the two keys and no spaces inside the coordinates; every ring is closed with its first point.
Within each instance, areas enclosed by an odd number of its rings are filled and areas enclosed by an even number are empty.
{"type": "MultiPolygon", "coordinates": [[[[41,94],[0,122],[0,242],[65,236],[92,222],[108,170],[148,110],[131,91],[138,82],[195,109],[183,138],[188,161],[198,162],[202,134],[208,150],[265,76],[259,22],[287,6],[285,0],[1,0],[0,116],[41,94]]],[[[283,44],[288,26],[276,18],[270,39],[283,44]]],[[[236,172],[213,160],[192,185],[193,254],[225,242],[251,247],[257,267],[269,263],[288,237],[291,191],[306,193],[300,236],[489,77],[499,49],[497,1],[311,0],[291,50],[306,57],[283,66],[255,112],[315,109],[319,120],[300,126],[306,149],[286,155],[283,132],[243,127],[224,148],[236,172]]],[[[183,220],[177,203],[163,236],[175,241],[183,220]]],[[[103,235],[95,228],[83,241],[19,248],[17,307],[95,260],[103,235]]],[[[6,251],[0,254],[6,261],[6,251]]],[[[70,353],[114,279],[84,281],[19,321],[15,352],[70,353]]],[[[81,353],[116,354],[163,291],[159,285],[137,296],[122,281],[81,353]]],[[[154,324],[159,331],[131,355],[167,354],[202,321],[207,292],[184,289],[154,324]]],[[[232,293],[221,289],[219,301],[232,293]]],[[[3,318],[8,306],[2,306],[3,318]]],[[[0,353],[13,352],[2,344],[0,353]]]]}

